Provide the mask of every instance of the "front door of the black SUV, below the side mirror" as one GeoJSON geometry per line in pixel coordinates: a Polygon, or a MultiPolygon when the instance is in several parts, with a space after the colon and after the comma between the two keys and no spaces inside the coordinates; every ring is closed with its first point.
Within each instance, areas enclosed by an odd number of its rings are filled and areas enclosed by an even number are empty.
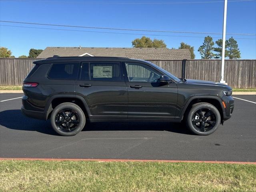
{"type": "Polygon", "coordinates": [[[141,63],[123,64],[127,72],[129,119],[175,119],[176,83],[160,84],[162,72],[141,63]]]}

